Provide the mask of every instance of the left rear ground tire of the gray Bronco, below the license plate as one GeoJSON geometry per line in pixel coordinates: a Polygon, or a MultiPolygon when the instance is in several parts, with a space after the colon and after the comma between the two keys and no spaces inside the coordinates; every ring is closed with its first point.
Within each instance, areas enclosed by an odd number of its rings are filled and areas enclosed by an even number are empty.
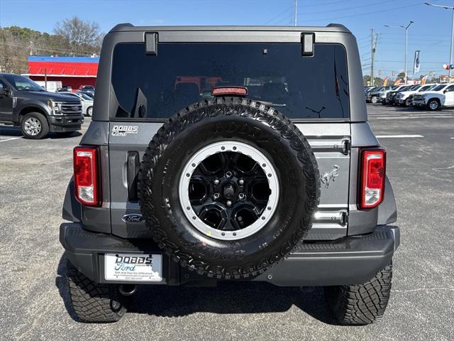
{"type": "Polygon", "coordinates": [[[111,323],[126,313],[116,284],[95,283],[70,261],[66,264],[70,299],[80,322],[111,323]]]}

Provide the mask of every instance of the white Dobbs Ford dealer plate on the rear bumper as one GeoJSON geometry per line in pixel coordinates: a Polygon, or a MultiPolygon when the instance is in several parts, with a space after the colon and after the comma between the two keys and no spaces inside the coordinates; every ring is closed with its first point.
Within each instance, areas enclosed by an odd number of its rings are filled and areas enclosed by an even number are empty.
{"type": "Polygon", "coordinates": [[[108,281],[162,281],[160,254],[106,254],[104,268],[108,281]]]}

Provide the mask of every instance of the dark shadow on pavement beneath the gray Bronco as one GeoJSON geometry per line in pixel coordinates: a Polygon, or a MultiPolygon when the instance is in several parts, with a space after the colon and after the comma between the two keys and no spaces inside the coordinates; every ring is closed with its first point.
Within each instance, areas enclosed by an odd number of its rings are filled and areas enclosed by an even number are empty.
{"type": "MultiPolygon", "coordinates": [[[[55,285],[70,316],[77,320],[70,303],[66,280],[66,257],[62,255],[55,285]]],[[[138,286],[133,296],[125,297],[130,313],[178,317],[193,313],[216,314],[276,313],[292,305],[323,323],[337,325],[329,312],[323,288],[305,293],[300,288],[281,288],[260,282],[219,282],[216,287],[138,286]]]]}

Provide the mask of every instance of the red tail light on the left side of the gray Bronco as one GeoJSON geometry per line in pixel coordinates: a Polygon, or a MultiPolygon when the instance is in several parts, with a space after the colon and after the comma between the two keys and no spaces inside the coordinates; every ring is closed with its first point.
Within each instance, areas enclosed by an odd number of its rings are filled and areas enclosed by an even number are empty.
{"type": "Polygon", "coordinates": [[[97,154],[97,148],[74,148],[74,193],[84,205],[99,206],[97,154]]]}

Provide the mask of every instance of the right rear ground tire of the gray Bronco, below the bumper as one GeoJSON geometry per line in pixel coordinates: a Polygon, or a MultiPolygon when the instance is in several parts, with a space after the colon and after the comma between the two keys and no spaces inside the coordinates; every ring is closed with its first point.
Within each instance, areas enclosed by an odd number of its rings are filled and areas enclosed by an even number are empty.
{"type": "Polygon", "coordinates": [[[380,320],[391,294],[392,263],[374,278],[352,286],[326,286],[328,306],[342,325],[368,325],[380,320]]]}

